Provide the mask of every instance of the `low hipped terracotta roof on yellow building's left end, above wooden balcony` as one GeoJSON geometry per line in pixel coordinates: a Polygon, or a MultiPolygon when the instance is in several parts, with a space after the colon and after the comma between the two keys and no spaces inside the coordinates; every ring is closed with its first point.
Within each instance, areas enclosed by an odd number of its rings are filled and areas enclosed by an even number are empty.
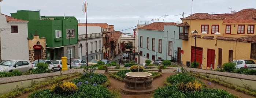
{"type": "Polygon", "coordinates": [[[181,20],[223,20],[223,19],[218,18],[214,15],[210,15],[208,13],[196,13],[186,18],[181,18],[181,20]]]}

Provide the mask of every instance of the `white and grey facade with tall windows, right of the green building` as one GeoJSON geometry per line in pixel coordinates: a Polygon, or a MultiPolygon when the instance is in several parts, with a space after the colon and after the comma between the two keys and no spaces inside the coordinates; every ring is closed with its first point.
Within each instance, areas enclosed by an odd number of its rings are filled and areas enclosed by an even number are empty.
{"type": "MultiPolygon", "coordinates": [[[[87,27],[88,61],[103,58],[103,34],[101,27],[87,27]]],[[[78,59],[86,60],[86,27],[78,25],[78,59]]]]}

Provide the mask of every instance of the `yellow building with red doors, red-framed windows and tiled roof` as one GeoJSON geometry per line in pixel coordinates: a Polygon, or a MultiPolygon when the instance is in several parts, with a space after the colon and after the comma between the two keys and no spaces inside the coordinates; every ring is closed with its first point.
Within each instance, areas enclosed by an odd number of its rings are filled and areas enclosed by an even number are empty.
{"type": "Polygon", "coordinates": [[[211,64],[216,69],[217,65],[238,59],[256,62],[256,9],[233,14],[196,13],[181,20],[177,26],[183,27],[179,39],[183,39],[184,65],[195,57],[203,69],[210,69],[211,64]],[[194,31],[198,34],[194,35],[194,31]]]}

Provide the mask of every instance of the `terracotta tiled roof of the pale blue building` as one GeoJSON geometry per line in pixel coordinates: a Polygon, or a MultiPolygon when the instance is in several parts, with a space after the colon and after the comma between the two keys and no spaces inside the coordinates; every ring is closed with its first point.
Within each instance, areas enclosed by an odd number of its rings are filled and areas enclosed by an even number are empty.
{"type": "Polygon", "coordinates": [[[176,23],[174,22],[154,22],[151,24],[148,24],[144,27],[140,27],[139,29],[145,29],[145,30],[164,30],[164,24],[166,26],[176,26],[176,23]]]}

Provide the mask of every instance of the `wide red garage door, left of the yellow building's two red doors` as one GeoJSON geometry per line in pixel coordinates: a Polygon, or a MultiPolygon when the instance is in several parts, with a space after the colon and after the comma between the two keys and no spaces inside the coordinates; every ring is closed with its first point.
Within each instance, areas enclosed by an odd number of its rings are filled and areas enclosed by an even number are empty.
{"type": "MultiPolygon", "coordinates": [[[[194,61],[194,58],[195,58],[195,47],[191,46],[191,62],[194,61]]],[[[200,68],[203,62],[203,48],[196,47],[196,61],[199,62],[198,68],[200,68]]]]}

